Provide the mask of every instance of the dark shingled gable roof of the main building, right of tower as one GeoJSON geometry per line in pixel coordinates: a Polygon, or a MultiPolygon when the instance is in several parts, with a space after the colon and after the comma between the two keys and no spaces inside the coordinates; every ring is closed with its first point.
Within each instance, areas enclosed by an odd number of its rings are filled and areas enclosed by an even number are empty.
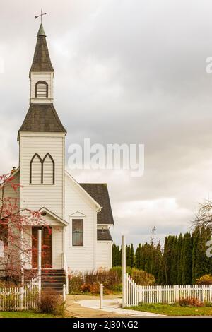
{"type": "Polygon", "coordinates": [[[97,214],[98,224],[114,225],[107,184],[81,183],[80,185],[102,206],[102,211],[97,214]]]}

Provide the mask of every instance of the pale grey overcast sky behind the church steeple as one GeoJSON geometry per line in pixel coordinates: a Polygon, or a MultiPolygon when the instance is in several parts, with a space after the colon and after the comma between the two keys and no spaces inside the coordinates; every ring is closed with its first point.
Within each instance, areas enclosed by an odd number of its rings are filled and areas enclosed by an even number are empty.
{"type": "MultiPolygon", "coordinates": [[[[54,66],[54,105],[70,143],[145,144],[145,172],[69,170],[107,182],[115,242],[185,232],[212,198],[210,0],[0,0],[0,174],[18,165],[40,8],[54,66]]],[[[69,157],[67,153],[67,158],[69,157]]]]}

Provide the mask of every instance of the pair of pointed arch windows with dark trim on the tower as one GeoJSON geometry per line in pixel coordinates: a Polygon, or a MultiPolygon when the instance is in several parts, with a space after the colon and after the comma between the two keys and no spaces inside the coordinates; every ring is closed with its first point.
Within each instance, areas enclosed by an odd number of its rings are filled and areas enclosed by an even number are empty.
{"type": "Polygon", "coordinates": [[[30,184],[54,184],[55,164],[52,155],[47,153],[40,158],[38,153],[30,161],[30,184]]]}

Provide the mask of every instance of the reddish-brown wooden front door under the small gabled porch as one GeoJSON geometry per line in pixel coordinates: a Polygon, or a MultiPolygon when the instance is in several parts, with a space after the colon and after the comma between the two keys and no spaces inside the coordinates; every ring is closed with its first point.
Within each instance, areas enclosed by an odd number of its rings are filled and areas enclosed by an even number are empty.
{"type": "Polygon", "coordinates": [[[52,227],[32,227],[32,266],[37,268],[37,230],[42,230],[42,268],[52,268],[52,227]]]}

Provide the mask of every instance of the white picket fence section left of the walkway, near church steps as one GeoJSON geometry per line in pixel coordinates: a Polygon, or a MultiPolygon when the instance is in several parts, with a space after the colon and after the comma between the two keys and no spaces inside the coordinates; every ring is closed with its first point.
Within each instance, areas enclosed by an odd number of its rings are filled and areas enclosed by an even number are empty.
{"type": "Polygon", "coordinates": [[[33,278],[24,287],[0,288],[0,311],[21,311],[37,307],[39,279],[33,278]]]}

